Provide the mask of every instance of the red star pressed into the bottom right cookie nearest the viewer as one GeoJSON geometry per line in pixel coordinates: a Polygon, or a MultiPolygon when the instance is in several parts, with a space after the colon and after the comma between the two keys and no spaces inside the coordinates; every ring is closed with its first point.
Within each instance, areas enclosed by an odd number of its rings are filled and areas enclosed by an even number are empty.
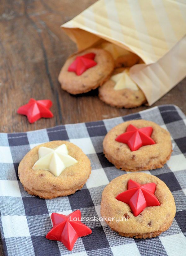
{"type": "Polygon", "coordinates": [[[160,202],[154,195],[155,190],[155,183],[141,185],[129,180],[127,190],[118,194],[116,199],[127,203],[131,207],[134,216],[137,216],[148,206],[160,205],[160,202]]]}

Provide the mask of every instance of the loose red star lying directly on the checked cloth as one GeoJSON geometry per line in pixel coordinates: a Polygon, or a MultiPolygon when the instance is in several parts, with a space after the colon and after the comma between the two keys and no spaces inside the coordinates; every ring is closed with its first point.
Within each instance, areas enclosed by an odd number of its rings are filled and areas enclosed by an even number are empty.
{"type": "Polygon", "coordinates": [[[46,235],[47,239],[60,241],[72,251],[78,237],[89,235],[91,229],[81,222],[81,212],[76,210],[69,215],[52,213],[53,228],[46,235]]]}

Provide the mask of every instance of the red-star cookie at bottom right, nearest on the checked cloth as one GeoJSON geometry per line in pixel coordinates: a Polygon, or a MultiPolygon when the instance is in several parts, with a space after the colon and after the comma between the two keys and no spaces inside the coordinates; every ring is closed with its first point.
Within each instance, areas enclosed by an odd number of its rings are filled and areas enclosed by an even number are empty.
{"type": "Polygon", "coordinates": [[[102,194],[101,215],[108,226],[122,236],[151,238],[160,235],[171,226],[175,212],[169,188],[150,174],[118,176],[102,194]]]}

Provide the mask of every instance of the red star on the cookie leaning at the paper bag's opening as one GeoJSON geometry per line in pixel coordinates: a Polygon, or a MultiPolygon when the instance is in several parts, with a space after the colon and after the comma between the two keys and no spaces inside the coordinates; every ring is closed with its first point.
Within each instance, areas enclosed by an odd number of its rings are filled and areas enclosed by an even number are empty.
{"type": "Polygon", "coordinates": [[[76,57],[75,61],[69,66],[68,71],[75,72],[76,75],[81,75],[90,67],[97,65],[94,61],[95,53],[87,53],[82,56],[76,57]]]}

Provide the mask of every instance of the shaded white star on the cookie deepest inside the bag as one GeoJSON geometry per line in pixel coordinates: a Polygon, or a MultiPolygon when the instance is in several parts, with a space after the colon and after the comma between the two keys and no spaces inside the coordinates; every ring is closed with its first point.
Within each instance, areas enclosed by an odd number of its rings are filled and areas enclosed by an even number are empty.
{"type": "Polygon", "coordinates": [[[114,60],[117,59],[117,57],[119,56],[123,56],[126,54],[129,54],[130,52],[127,51],[126,49],[119,47],[113,43],[109,43],[109,42],[104,42],[101,44],[101,47],[105,50],[107,50],[109,53],[112,54],[114,60]]]}

